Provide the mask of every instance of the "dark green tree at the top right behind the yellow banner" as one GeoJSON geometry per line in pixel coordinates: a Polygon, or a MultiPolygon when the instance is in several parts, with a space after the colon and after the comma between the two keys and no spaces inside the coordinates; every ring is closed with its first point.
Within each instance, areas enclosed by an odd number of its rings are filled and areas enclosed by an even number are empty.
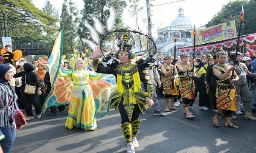
{"type": "Polygon", "coordinates": [[[256,0],[236,0],[230,1],[223,6],[221,11],[214,15],[212,20],[207,23],[207,27],[218,23],[225,23],[230,20],[236,20],[236,31],[239,32],[241,6],[244,7],[244,22],[241,27],[241,35],[252,34],[256,31],[256,0]]]}

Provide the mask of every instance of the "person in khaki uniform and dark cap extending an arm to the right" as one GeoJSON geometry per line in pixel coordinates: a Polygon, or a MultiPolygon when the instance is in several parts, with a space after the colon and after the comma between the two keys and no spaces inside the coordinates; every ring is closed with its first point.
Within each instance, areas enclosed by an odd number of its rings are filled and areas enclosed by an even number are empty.
{"type": "MultiPolygon", "coordinates": [[[[252,116],[252,109],[250,108],[251,96],[250,96],[250,90],[247,85],[247,79],[246,79],[246,76],[247,77],[256,77],[256,74],[248,71],[246,65],[244,63],[240,62],[242,60],[242,54],[240,52],[237,52],[236,59],[235,59],[235,54],[236,54],[235,51],[230,52],[229,56],[230,56],[230,59],[232,59],[232,62],[230,62],[228,65],[233,65],[233,62],[236,62],[236,70],[235,71],[239,77],[239,81],[234,82],[234,85],[236,87],[237,95],[240,95],[241,101],[244,104],[244,111],[245,111],[244,119],[256,121],[256,117],[252,116]]],[[[239,101],[236,103],[236,108],[237,108],[236,113],[240,113],[239,112],[239,109],[240,109],[239,101]]]]}

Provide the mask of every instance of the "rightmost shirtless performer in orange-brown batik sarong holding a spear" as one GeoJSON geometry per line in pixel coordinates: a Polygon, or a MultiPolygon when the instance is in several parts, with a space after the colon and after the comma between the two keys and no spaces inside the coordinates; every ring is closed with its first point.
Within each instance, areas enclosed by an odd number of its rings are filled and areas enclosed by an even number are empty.
{"type": "Polygon", "coordinates": [[[236,114],[236,88],[234,82],[239,80],[236,72],[234,79],[231,79],[232,71],[236,70],[236,66],[225,64],[227,61],[227,53],[221,51],[217,54],[218,64],[212,67],[213,75],[216,78],[216,99],[218,111],[213,117],[213,124],[219,127],[219,118],[226,117],[225,126],[239,128],[237,125],[230,122],[230,117],[236,114]]]}

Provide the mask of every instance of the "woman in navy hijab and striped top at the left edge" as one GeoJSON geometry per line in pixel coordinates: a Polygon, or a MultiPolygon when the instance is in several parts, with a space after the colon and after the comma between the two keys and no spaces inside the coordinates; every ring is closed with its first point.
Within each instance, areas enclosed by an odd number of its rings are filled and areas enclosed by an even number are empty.
{"type": "Polygon", "coordinates": [[[5,139],[0,140],[4,153],[10,153],[15,139],[15,91],[8,81],[13,78],[13,70],[8,65],[0,65],[0,130],[5,139]]]}

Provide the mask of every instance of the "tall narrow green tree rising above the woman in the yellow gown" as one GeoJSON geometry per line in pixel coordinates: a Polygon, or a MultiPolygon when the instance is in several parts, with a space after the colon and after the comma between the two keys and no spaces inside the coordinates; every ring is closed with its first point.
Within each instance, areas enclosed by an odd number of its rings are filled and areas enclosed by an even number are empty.
{"type": "Polygon", "coordinates": [[[73,52],[73,48],[78,47],[75,42],[75,39],[77,37],[78,23],[80,20],[78,17],[78,14],[79,12],[75,4],[71,3],[71,8],[70,8],[70,3],[68,3],[67,0],[64,0],[64,3],[62,4],[61,20],[60,20],[61,28],[62,27],[64,28],[63,54],[71,54],[73,52]],[[71,16],[70,16],[70,9],[72,10],[71,16]],[[71,25],[72,25],[72,29],[71,29],[71,25]]]}

